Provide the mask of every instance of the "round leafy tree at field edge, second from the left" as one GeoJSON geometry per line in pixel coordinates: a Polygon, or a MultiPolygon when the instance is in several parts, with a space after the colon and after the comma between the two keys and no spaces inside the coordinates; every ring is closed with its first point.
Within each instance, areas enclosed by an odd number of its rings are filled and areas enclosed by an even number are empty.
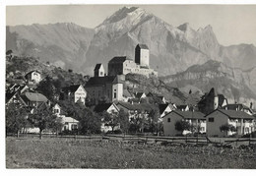
{"type": "Polygon", "coordinates": [[[51,111],[49,107],[35,109],[35,112],[29,116],[33,127],[39,128],[39,138],[42,139],[42,131],[45,129],[56,129],[60,126],[60,120],[51,111]]]}

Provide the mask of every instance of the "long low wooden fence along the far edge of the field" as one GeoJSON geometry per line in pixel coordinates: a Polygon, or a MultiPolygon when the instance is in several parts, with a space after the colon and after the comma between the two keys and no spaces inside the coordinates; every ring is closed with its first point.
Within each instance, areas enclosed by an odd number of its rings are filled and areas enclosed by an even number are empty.
{"type": "MultiPolygon", "coordinates": [[[[38,138],[37,134],[21,134],[20,139],[38,138]]],[[[256,139],[238,138],[222,139],[208,137],[159,137],[140,135],[65,135],[56,136],[54,134],[43,134],[43,138],[74,139],[100,142],[120,142],[142,145],[162,145],[162,146],[215,146],[215,147],[256,147],[256,139]]]]}

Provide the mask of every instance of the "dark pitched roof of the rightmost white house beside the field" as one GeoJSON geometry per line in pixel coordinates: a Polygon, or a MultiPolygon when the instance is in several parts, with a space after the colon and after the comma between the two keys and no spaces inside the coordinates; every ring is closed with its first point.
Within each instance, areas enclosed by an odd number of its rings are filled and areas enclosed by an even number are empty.
{"type": "MultiPolygon", "coordinates": [[[[228,116],[229,118],[233,118],[233,119],[254,119],[253,116],[247,114],[246,112],[243,111],[236,111],[236,110],[224,110],[224,109],[216,109],[215,111],[220,111],[223,114],[225,114],[226,116],[228,116]]],[[[215,112],[213,111],[213,112],[215,112]]],[[[210,114],[212,114],[213,112],[211,112],[210,114]]],[[[208,115],[210,115],[208,114],[208,115]]],[[[208,116],[206,115],[206,116],[208,116]]]]}

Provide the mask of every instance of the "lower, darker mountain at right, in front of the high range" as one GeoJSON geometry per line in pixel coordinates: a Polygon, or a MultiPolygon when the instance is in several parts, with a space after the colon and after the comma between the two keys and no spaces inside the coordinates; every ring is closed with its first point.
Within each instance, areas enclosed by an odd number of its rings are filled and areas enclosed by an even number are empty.
{"type": "Polygon", "coordinates": [[[194,65],[186,71],[166,76],[161,80],[168,86],[189,92],[208,92],[216,88],[224,94],[229,103],[250,102],[256,104],[256,67],[242,71],[231,68],[222,62],[210,60],[203,65],[194,65]]]}

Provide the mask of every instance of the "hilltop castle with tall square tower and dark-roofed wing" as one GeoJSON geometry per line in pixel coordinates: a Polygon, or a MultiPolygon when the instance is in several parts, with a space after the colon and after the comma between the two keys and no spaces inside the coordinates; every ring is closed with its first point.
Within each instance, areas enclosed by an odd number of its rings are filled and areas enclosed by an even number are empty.
{"type": "Polygon", "coordinates": [[[135,48],[135,62],[127,56],[116,56],[108,62],[108,76],[140,74],[146,77],[157,76],[158,72],[150,69],[150,51],[146,44],[135,48]]]}

